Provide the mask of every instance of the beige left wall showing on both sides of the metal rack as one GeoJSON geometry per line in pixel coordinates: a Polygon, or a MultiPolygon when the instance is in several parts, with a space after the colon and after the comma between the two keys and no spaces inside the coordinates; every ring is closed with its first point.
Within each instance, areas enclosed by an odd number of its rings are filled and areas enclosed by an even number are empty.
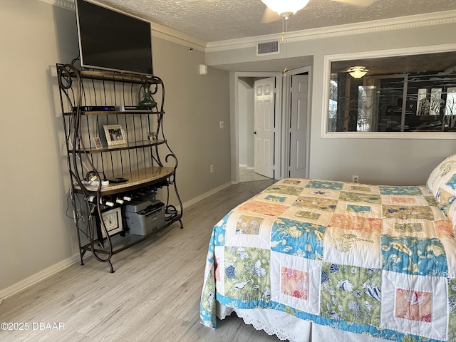
{"type": "MultiPolygon", "coordinates": [[[[78,260],[66,217],[72,212],[55,72],[55,63],[78,55],[75,14],[37,0],[2,0],[0,43],[1,298],[78,260]]],[[[177,186],[189,203],[230,181],[229,76],[212,68],[199,76],[200,51],[159,38],[152,44],[166,87],[165,134],[180,162],[177,186]]]]}

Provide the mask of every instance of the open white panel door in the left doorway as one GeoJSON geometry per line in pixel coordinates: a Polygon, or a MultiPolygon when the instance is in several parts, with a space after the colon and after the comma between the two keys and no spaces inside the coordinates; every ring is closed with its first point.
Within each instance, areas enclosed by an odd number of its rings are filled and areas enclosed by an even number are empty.
{"type": "Polygon", "coordinates": [[[255,81],[254,171],[274,178],[274,77],[255,81]]]}

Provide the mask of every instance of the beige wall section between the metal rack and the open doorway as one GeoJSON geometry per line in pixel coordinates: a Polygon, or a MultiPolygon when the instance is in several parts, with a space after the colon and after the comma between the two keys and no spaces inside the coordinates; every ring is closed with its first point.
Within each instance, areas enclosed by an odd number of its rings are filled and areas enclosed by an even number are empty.
{"type": "Polygon", "coordinates": [[[179,160],[177,185],[185,202],[231,180],[229,74],[209,68],[200,76],[204,53],[157,38],[152,44],[154,70],[165,83],[163,127],[179,160]]]}

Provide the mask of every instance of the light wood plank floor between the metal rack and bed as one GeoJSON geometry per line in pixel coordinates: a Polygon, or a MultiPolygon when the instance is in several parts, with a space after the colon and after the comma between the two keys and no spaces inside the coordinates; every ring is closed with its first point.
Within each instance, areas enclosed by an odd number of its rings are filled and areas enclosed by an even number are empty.
{"type": "Polygon", "coordinates": [[[184,229],[167,231],[113,256],[115,273],[93,257],[0,304],[0,323],[27,331],[2,331],[0,341],[279,341],[233,315],[215,329],[199,323],[199,297],[212,227],[232,207],[272,180],[243,182],[185,209],[184,229]],[[49,323],[64,330],[46,330],[49,323]],[[45,325],[43,325],[45,324],[45,325]]]}

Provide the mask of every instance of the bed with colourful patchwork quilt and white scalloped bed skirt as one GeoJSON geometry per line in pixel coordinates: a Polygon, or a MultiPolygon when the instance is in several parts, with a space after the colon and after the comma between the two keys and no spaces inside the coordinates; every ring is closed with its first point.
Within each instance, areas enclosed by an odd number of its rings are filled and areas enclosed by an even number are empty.
{"type": "Polygon", "coordinates": [[[426,185],[284,179],[212,229],[200,318],[289,341],[456,341],[456,155],[426,185]]]}

